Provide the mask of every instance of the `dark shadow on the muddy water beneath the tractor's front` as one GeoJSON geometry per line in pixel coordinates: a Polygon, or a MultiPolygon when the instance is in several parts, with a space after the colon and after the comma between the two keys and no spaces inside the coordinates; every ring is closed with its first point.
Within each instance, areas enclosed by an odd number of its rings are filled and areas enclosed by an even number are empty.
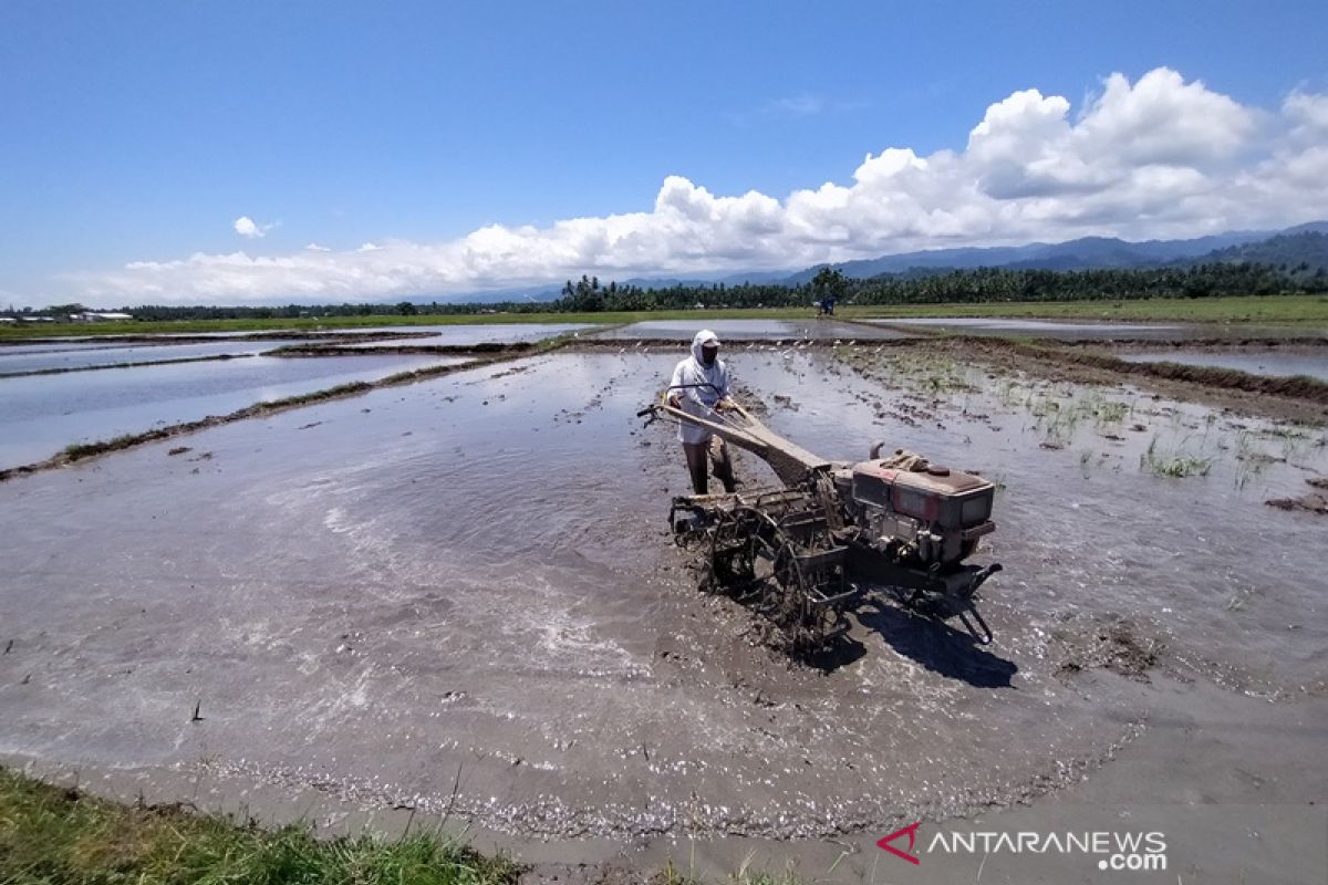
{"type": "Polygon", "coordinates": [[[971,633],[939,617],[918,614],[875,597],[863,600],[857,614],[859,624],[878,633],[895,651],[943,677],[979,689],[1009,689],[1019,673],[1012,661],[992,654],[971,633]]]}

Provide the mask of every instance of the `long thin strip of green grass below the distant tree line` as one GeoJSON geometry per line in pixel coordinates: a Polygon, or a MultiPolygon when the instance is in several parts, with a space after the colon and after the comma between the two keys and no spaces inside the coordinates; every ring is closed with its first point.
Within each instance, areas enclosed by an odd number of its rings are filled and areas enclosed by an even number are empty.
{"type": "MultiPolygon", "coordinates": [[[[835,318],[904,317],[1036,317],[1049,320],[1191,321],[1328,325],[1328,297],[1321,295],[1226,299],[1146,299],[1133,301],[1029,301],[1001,304],[911,304],[841,306],[835,318]]],[[[24,324],[0,328],[0,341],[76,334],[146,334],[155,332],[275,332],[280,329],[357,329],[385,325],[477,325],[491,322],[639,322],[643,320],[811,320],[803,306],[706,310],[632,310],[614,313],[420,314],[412,317],[305,317],[299,320],[163,320],[130,322],[24,324]]]]}

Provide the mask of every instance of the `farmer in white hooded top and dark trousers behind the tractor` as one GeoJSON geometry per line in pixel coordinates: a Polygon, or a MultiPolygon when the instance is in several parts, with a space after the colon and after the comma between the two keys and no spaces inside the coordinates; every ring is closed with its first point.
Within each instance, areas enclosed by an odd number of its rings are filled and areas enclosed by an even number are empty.
{"type": "MultiPolygon", "coordinates": [[[[720,360],[720,340],[709,329],[701,329],[692,338],[692,356],[673,369],[669,405],[689,415],[724,423],[718,413],[732,405],[728,397],[729,370],[720,360]]],[[[706,459],[713,462],[714,478],[724,483],[724,491],[733,491],[733,463],[724,439],[687,419],[679,422],[677,438],[683,442],[687,470],[692,474],[692,491],[706,494],[706,459]]]]}

